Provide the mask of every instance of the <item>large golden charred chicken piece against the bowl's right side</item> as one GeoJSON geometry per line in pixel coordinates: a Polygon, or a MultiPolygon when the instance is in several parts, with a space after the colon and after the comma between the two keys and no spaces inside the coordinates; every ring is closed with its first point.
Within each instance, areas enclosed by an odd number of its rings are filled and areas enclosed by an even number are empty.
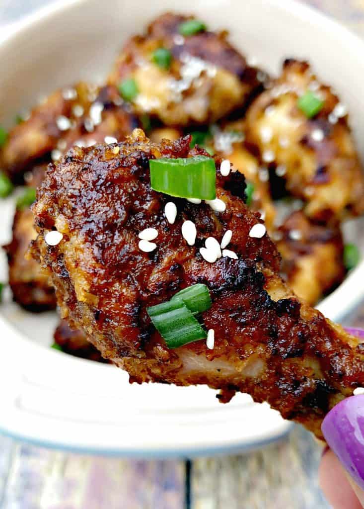
{"type": "Polygon", "coordinates": [[[309,217],[335,222],[347,211],[364,211],[363,174],[346,108],[308,63],[285,61],[280,78],[247,112],[247,139],[262,164],[277,168],[287,190],[307,202],[309,217]],[[324,101],[312,119],[297,103],[308,91],[324,101]]]}

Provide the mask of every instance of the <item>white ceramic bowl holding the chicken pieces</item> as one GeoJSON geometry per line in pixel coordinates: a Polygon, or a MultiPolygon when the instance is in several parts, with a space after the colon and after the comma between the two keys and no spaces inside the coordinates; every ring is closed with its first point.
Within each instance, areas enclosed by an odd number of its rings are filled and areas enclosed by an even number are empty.
{"type": "MultiPolygon", "coordinates": [[[[291,0],[69,0],[53,4],[0,36],[1,122],[40,95],[79,79],[101,80],[117,50],[166,10],[195,13],[228,28],[245,54],[277,73],[283,58],[308,58],[348,104],[364,139],[364,43],[342,26],[291,0]]],[[[361,153],[364,144],[359,144],[361,153]]],[[[362,154],[363,155],[363,154],[362,154]]],[[[2,202],[0,241],[9,239],[13,201],[2,202]]],[[[347,235],[362,238],[362,222],[347,235]]],[[[363,246],[361,246],[363,247],[363,246]]],[[[0,267],[6,274],[5,257],[0,267]]],[[[340,320],[362,297],[361,264],[320,308],[340,320]]],[[[249,449],[283,436],[289,424],[239,394],[220,405],[206,387],[129,385],[108,365],[51,350],[55,314],[0,308],[0,429],[50,447],[126,456],[187,456],[249,449]]]]}

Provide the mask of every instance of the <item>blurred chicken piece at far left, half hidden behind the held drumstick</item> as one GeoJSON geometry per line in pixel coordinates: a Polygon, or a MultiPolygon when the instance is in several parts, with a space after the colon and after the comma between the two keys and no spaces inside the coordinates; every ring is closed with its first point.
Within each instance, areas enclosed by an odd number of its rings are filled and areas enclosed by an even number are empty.
{"type": "MultiPolygon", "coordinates": [[[[37,187],[43,179],[46,165],[36,166],[28,185],[37,187]]],[[[31,209],[17,209],[13,220],[12,240],[4,246],[8,257],[9,286],[13,299],[25,309],[41,312],[56,307],[54,289],[49,275],[33,258],[25,258],[29,244],[37,237],[31,209]]]]}

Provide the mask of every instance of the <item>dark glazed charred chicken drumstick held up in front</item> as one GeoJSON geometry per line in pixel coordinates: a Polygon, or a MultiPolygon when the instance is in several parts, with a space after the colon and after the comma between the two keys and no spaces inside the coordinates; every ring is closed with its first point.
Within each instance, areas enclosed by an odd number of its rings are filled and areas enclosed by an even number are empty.
{"type": "Polygon", "coordinates": [[[125,143],[71,149],[38,191],[33,252],[51,275],[62,316],[131,381],[207,384],[222,390],[222,401],[249,392],[322,437],[326,412],[364,384],[359,341],[300,302],[278,275],[274,243],[250,236],[261,221],[242,200],[241,174],[222,177],[216,159],[224,212],[150,188],[149,159],[206,154],[191,151],[190,140],[156,145],[137,130],[125,143]],[[173,224],[164,214],[169,201],[177,206],[173,224]],[[193,246],[181,235],[187,219],[197,229],[193,246]],[[147,227],[158,230],[148,253],[138,247],[147,227]],[[53,229],[63,239],[49,246],[53,229]],[[205,239],[221,241],[229,229],[238,259],[206,262],[199,251],[205,239]],[[202,320],[215,330],[215,348],[196,341],[171,350],[146,308],[198,282],[211,295],[202,320]]]}

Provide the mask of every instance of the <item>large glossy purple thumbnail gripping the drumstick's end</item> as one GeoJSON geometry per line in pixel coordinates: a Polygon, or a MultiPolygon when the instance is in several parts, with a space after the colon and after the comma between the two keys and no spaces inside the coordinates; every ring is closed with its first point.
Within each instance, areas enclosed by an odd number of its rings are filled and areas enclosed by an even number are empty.
{"type": "Polygon", "coordinates": [[[326,442],[364,490],[364,394],[341,401],[322,422],[326,442]]]}

